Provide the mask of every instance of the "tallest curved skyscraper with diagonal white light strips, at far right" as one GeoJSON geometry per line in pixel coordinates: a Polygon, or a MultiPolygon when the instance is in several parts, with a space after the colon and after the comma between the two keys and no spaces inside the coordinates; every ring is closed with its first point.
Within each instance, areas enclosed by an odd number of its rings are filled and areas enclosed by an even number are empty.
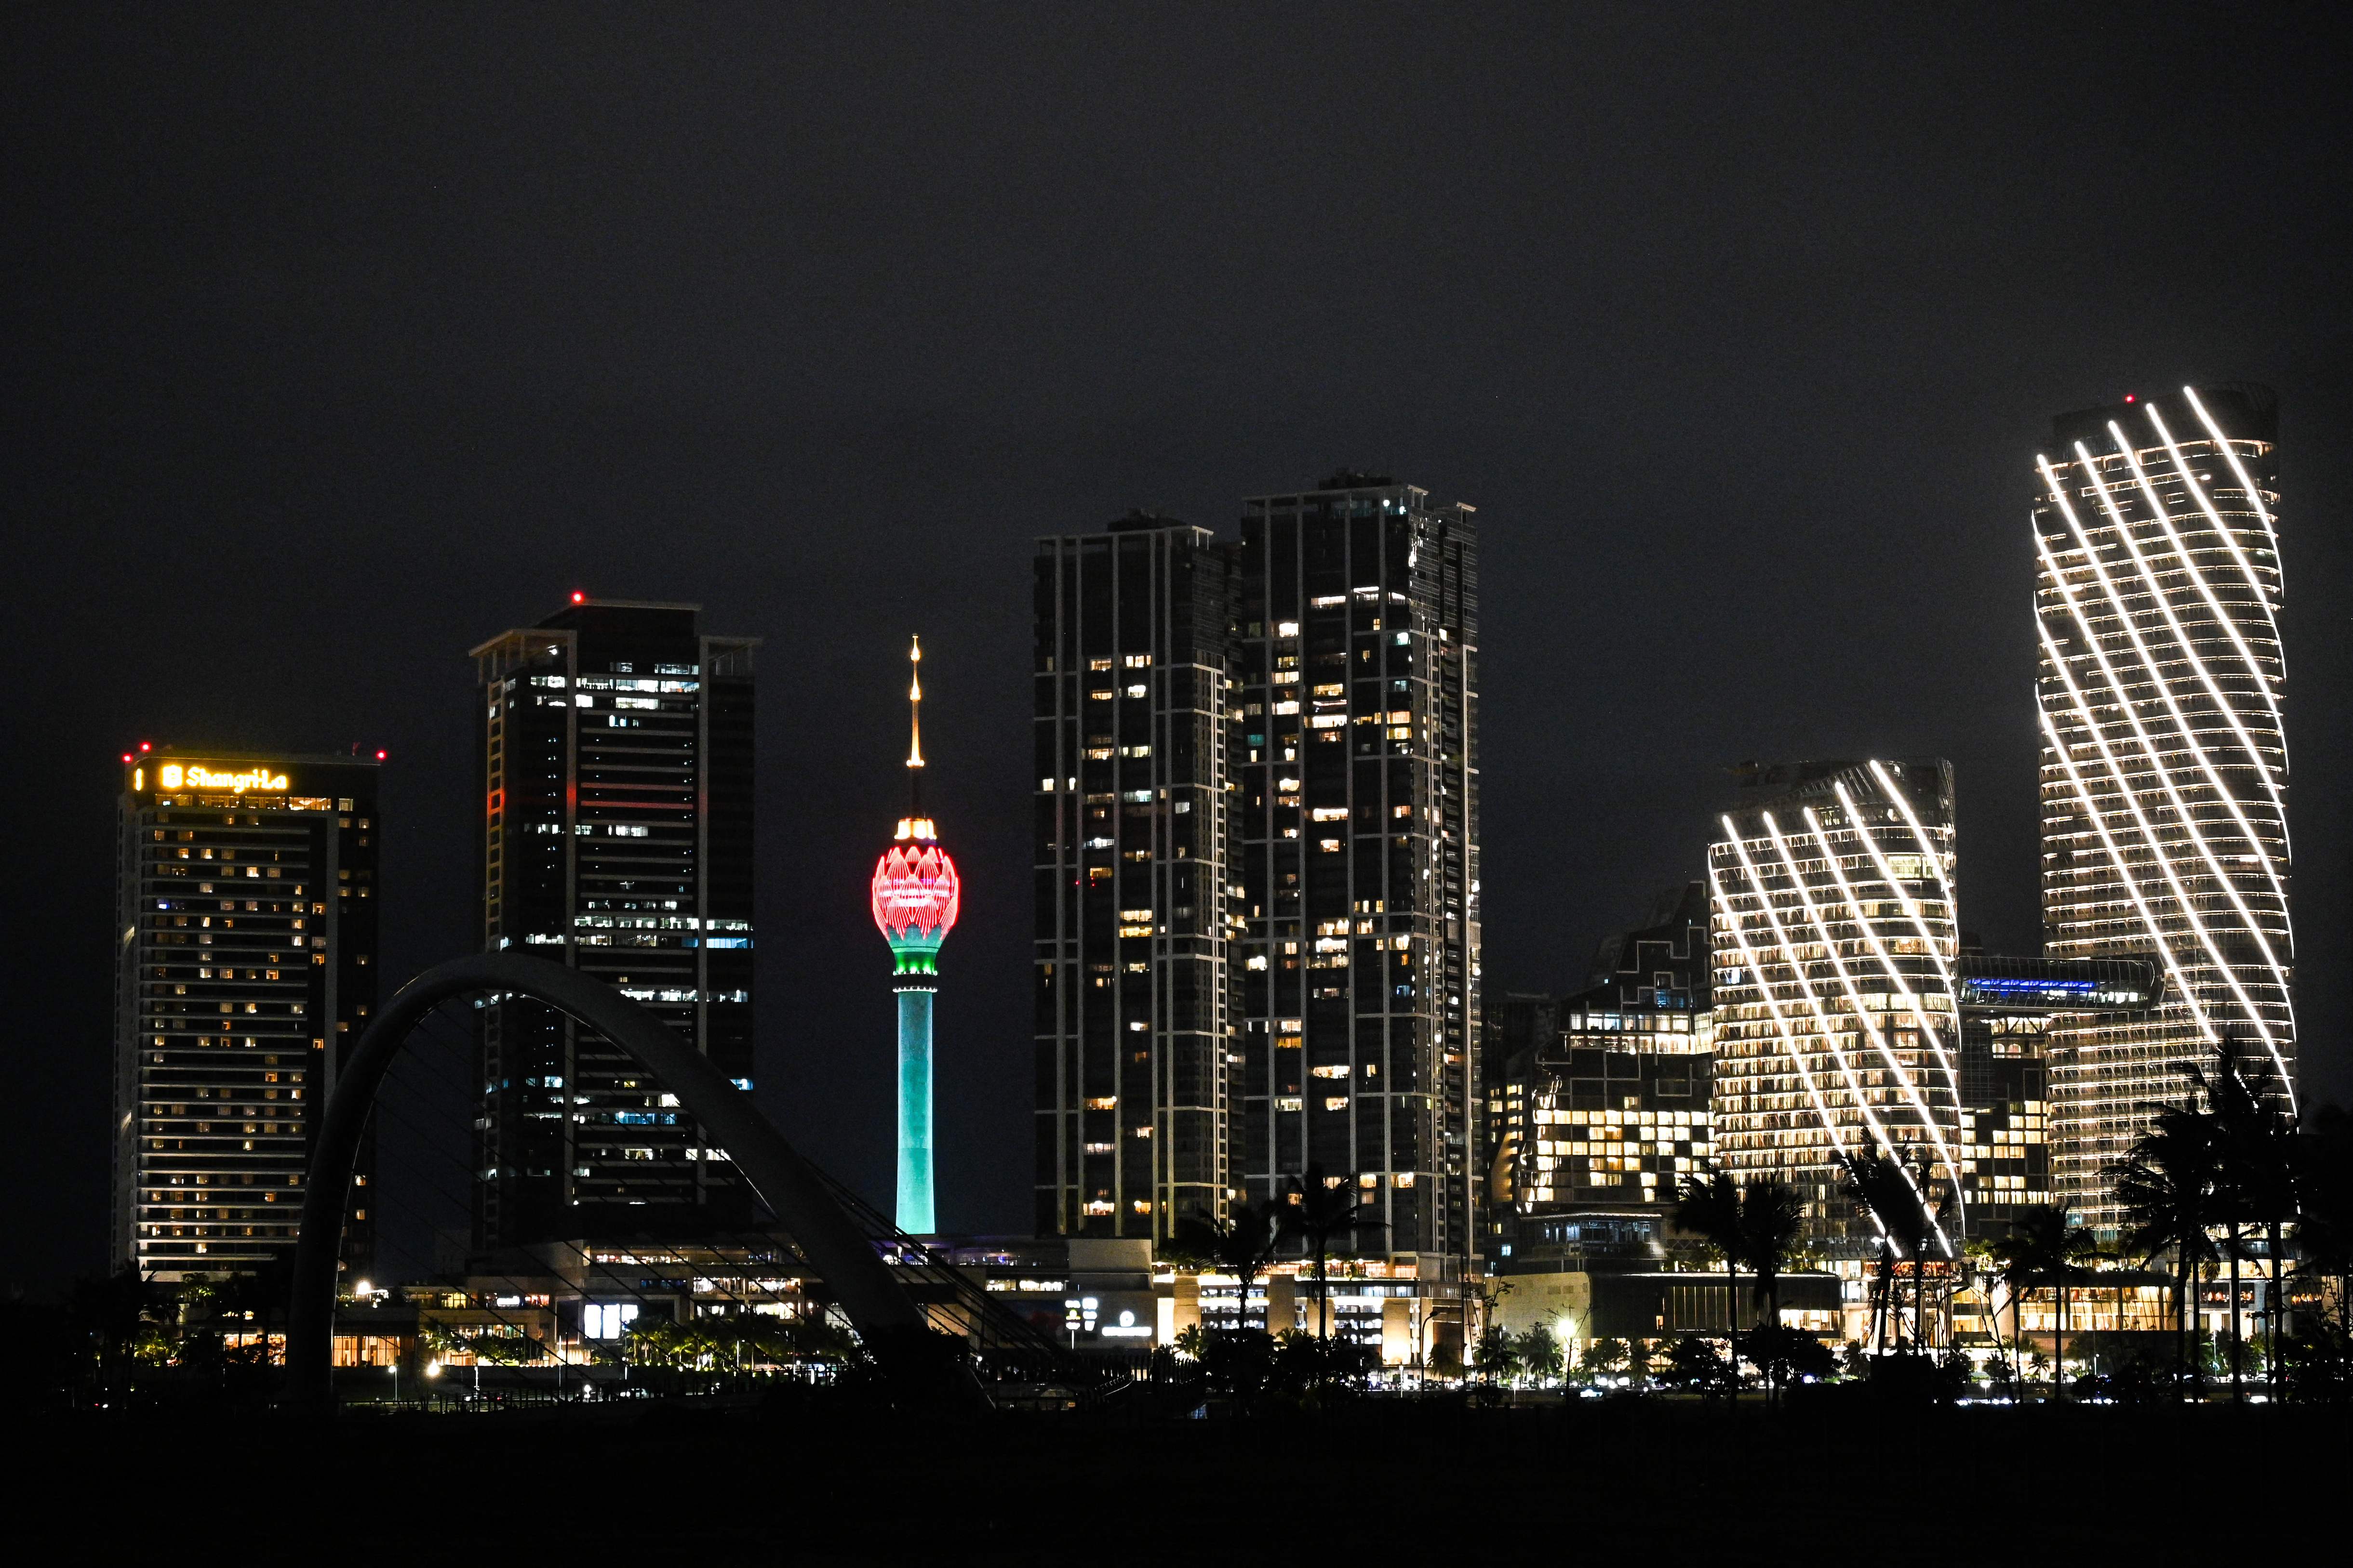
{"type": "Polygon", "coordinates": [[[2271,390],[2181,388],[2061,414],[2035,463],[2042,950],[2162,980],[2049,1034],[2059,1194],[2099,1229],[2221,1041],[2294,1103],[2275,442],[2271,390]]]}

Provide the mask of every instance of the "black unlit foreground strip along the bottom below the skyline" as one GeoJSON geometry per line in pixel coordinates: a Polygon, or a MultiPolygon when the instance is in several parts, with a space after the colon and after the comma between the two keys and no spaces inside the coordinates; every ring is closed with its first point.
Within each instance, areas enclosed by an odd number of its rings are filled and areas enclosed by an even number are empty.
{"type": "Polygon", "coordinates": [[[2299,1537],[2334,1559],[2348,1432],[2346,1410],[2297,1406],[1661,1401],[1148,1425],[814,1406],[332,1427],[87,1415],[19,1425],[9,1479],[19,1544],[54,1533],[148,1556],[205,1542],[245,1561],[680,1561],[701,1547],[729,1563],[1431,1549],[1478,1563],[1612,1549],[1720,1566],[1977,1542],[1969,1556],[1988,1561],[2146,1563],[2299,1537]]]}

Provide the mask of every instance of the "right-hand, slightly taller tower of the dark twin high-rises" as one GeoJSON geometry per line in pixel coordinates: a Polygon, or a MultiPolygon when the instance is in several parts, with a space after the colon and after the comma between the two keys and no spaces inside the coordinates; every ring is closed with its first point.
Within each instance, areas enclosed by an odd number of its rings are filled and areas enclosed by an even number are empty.
{"type": "Polygon", "coordinates": [[[1353,1182],[1355,1244],[1475,1253],[1478,531],[1365,475],[1242,505],[1235,1190],[1353,1182]]]}

